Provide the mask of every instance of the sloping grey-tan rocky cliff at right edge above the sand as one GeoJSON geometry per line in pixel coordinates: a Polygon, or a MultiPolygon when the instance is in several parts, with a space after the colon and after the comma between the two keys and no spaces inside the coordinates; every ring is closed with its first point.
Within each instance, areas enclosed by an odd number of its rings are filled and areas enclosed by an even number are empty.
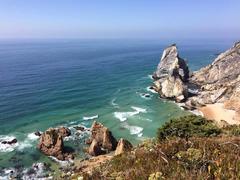
{"type": "MultiPolygon", "coordinates": [[[[240,87],[240,42],[220,54],[212,64],[193,73],[190,84],[198,87],[195,104],[223,103],[240,87]]],[[[233,98],[232,98],[233,99],[233,98]]]]}

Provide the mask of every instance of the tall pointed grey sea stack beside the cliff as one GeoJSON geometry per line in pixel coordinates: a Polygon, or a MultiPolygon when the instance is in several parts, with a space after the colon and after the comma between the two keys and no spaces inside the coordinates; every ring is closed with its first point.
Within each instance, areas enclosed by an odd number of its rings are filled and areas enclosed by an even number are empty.
{"type": "Polygon", "coordinates": [[[156,72],[153,74],[154,89],[161,97],[183,101],[188,96],[186,82],[189,78],[188,66],[178,55],[176,45],[163,52],[156,72]]]}

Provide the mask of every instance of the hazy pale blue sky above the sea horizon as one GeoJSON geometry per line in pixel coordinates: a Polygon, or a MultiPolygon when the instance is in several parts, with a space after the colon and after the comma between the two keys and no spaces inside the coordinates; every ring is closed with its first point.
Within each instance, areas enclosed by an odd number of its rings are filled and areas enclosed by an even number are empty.
{"type": "Polygon", "coordinates": [[[0,38],[240,39],[240,0],[0,0],[0,38]]]}

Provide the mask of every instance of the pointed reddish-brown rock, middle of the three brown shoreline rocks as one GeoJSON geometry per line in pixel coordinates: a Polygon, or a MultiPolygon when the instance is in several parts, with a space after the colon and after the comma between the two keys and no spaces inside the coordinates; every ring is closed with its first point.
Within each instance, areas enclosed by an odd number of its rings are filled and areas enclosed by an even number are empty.
{"type": "Polygon", "coordinates": [[[105,151],[113,151],[117,146],[117,140],[112,135],[112,132],[107,127],[96,121],[92,124],[91,136],[87,140],[87,143],[91,144],[89,149],[91,152],[93,148],[98,151],[98,146],[103,149],[102,153],[105,151]]]}

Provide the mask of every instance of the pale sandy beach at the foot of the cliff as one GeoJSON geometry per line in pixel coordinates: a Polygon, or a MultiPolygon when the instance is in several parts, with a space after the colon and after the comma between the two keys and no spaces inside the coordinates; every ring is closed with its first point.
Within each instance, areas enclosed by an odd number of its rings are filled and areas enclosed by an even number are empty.
{"type": "Polygon", "coordinates": [[[224,121],[231,125],[240,124],[236,111],[225,109],[223,103],[208,104],[198,110],[206,119],[215,120],[220,126],[223,126],[224,121]]]}

